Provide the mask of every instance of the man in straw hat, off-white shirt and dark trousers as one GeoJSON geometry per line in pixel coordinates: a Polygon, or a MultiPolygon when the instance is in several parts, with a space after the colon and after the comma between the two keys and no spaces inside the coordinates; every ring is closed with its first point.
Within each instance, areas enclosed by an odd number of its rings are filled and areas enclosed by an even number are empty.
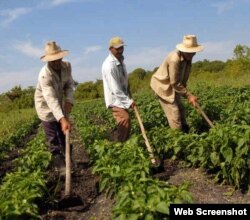
{"type": "Polygon", "coordinates": [[[35,90],[35,108],[49,142],[49,150],[59,161],[59,166],[64,165],[65,132],[70,130],[67,114],[73,106],[71,65],[62,61],[67,54],[68,51],[61,50],[54,41],[45,44],[45,54],[40,59],[47,63],[39,73],[35,90]]]}

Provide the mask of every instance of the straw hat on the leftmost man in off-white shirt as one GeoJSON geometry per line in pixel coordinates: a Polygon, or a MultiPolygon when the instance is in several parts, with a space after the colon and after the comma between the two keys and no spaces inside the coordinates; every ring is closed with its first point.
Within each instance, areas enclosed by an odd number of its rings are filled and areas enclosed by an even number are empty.
{"type": "Polygon", "coordinates": [[[44,51],[45,55],[41,56],[40,58],[44,62],[59,60],[68,55],[68,50],[61,50],[55,41],[47,42],[45,44],[44,51]]]}

